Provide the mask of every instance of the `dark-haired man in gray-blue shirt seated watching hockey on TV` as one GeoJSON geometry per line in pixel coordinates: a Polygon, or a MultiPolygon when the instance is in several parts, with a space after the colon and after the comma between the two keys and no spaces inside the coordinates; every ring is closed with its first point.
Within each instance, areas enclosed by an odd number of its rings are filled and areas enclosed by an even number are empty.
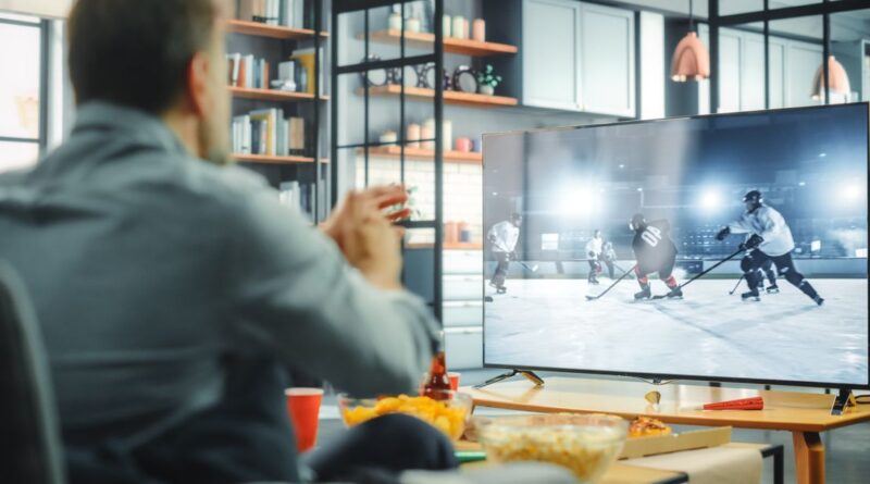
{"type": "Polygon", "coordinates": [[[297,466],[286,367],[356,395],[411,392],[437,326],[399,284],[399,237],[381,209],[402,203],[401,188],[351,194],[319,231],[259,176],[221,165],[224,8],[79,0],[72,135],[0,177],[0,259],[42,326],[70,481],[456,466],[443,436],[403,415],[297,466]]]}

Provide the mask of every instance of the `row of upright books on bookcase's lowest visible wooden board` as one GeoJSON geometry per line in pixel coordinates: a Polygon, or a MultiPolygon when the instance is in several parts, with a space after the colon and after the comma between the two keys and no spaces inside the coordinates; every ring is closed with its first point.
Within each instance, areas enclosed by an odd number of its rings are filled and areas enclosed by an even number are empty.
{"type": "Polygon", "coordinates": [[[251,111],[233,119],[232,140],[237,154],[304,156],[306,122],[275,108],[251,111]]]}

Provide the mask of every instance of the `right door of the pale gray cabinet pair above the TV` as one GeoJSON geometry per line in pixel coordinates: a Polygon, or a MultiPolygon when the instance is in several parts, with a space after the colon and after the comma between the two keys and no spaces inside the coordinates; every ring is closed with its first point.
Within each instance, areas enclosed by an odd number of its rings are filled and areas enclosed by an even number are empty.
{"type": "Polygon", "coordinates": [[[634,12],[583,3],[580,83],[584,111],[634,117],[634,12]]]}

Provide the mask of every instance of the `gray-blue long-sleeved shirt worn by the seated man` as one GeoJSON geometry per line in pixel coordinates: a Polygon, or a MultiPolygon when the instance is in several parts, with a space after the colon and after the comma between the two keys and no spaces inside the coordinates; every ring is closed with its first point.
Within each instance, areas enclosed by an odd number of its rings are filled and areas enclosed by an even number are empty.
{"type": "Polygon", "coordinates": [[[33,171],[0,176],[0,259],[36,307],[65,431],[149,438],[216,404],[227,355],[359,395],[415,387],[436,342],[428,309],[370,285],[277,198],[107,103],[83,106],[33,171]]]}

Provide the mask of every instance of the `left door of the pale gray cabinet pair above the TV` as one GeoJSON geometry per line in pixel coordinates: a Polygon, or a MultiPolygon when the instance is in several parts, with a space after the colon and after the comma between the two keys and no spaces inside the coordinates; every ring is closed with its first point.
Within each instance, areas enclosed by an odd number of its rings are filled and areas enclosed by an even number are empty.
{"type": "Polygon", "coordinates": [[[523,0],[523,104],[580,109],[580,3],[523,0]]]}

